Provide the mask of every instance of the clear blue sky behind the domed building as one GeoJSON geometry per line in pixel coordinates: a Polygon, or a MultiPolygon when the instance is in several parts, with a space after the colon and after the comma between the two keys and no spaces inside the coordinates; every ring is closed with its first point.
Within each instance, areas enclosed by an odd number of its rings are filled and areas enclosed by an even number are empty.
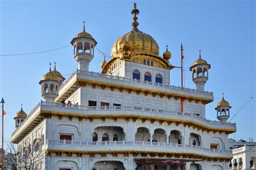
{"type": "MultiPolygon", "coordinates": [[[[160,47],[169,45],[170,62],[180,65],[180,44],[184,45],[186,70],[202,58],[211,64],[205,89],[215,99],[206,105],[206,117],[217,120],[214,110],[221,94],[232,105],[233,116],[255,89],[255,2],[254,1],[136,1],[140,10],[139,30],[150,34],[160,47]]],[[[0,54],[44,51],[70,44],[86,31],[97,47],[110,55],[114,41],[132,27],[133,1],[1,1],[0,54]]],[[[0,56],[1,91],[5,100],[4,132],[15,130],[13,117],[21,108],[29,114],[42,99],[38,82],[48,72],[49,62],[67,78],[76,68],[73,48],[35,55],[0,56]]],[[[109,60],[109,58],[107,58],[109,60]]],[[[100,72],[103,55],[96,51],[90,70],[100,72]]],[[[171,84],[180,86],[180,70],[171,70],[171,84]]],[[[185,72],[185,87],[195,88],[191,72],[185,72]]],[[[254,91],[255,94],[255,91],[254,91]]],[[[254,138],[255,97],[232,120],[237,123],[235,139],[254,138]]],[[[234,137],[231,134],[229,137],[234,137]]]]}

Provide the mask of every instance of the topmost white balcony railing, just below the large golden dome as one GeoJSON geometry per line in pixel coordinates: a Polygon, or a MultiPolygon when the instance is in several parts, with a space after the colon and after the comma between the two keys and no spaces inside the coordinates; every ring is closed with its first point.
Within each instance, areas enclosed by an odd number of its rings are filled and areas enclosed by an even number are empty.
{"type": "Polygon", "coordinates": [[[148,81],[143,81],[143,80],[128,79],[126,77],[114,76],[114,75],[109,75],[109,74],[101,74],[101,73],[95,73],[95,72],[86,72],[84,70],[76,70],[65,82],[63,82],[63,84],[59,87],[59,91],[62,90],[64,88],[64,86],[76,74],[90,75],[90,76],[95,76],[95,77],[103,77],[103,78],[106,78],[106,79],[119,80],[119,81],[125,81],[125,82],[133,82],[133,83],[139,83],[139,84],[147,84],[149,86],[158,86],[158,87],[163,87],[163,88],[166,88],[166,89],[188,91],[188,92],[197,93],[197,94],[213,95],[213,92],[208,92],[208,91],[200,91],[200,90],[196,90],[196,89],[177,87],[177,86],[170,86],[169,84],[160,84],[160,83],[148,82],[148,81]]]}

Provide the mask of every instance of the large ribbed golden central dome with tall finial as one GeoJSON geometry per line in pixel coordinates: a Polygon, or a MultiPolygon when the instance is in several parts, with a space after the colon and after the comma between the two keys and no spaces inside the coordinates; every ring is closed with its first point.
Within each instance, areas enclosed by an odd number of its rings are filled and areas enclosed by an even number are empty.
{"type": "Polygon", "coordinates": [[[142,53],[159,56],[159,46],[157,41],[154,40],[149,34],[139,31],[137,28],[139,23],[137,22],[138,18],[136,15],[139,14],[139,10],[136,9],[136,3],[134,3],[132,14],[134,15],[132,23],[133,29],[131,32],[124,34],[123,36],[119,37],[116,42],[114,42],[111,49],[112,58],[117,57],[118,54],[122,54],[122,45],[125,41],[130,44],[130,54],[142,53]]]}

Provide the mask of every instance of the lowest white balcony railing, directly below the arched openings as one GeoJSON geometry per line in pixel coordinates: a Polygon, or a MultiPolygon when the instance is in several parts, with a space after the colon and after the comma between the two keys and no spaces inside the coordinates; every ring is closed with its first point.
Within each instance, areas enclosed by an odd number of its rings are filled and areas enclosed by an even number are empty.
{"type": "Polygon", "coordinates": [[[185,144],[171,144],[171,143],[154,143],[145,141],[73,141],[73,140],[46,140],[46,144],[58,144],[58,145],[72,145],[72,146],[158,146],[158,147],[174,147],[174,148],[193,148],[195,150],[216,152],[216,153],[229,153],[232,154],[232,150],[212,150],[201,146],[185,145],[185,144]]]}

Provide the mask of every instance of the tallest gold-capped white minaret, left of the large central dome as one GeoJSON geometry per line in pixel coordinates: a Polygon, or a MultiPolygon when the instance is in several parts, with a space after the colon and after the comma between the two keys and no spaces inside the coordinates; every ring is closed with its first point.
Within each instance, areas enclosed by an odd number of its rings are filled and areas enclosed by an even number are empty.
{"type": "Polygon", "coordinates": [[[94,47],[97,41],[92,38],[91,34],[85,32],[84,26],[83,31],[78,33],[70,43],[74,47],[73,55],[78,62],[78,69],[88,72],[89,63],[94,57],[94,47]]]}

